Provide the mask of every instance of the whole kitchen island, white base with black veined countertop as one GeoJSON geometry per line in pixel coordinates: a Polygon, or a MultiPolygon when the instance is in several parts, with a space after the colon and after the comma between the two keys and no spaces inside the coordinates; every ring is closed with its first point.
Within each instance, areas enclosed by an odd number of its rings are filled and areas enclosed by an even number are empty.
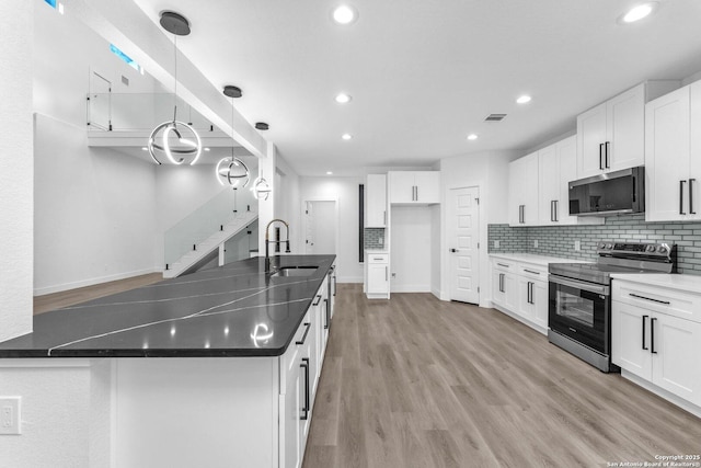
{"type": "Polygon", "coordinates": [[[298,467],[334,255],[262,258],[35,317],[0,343],[11,466],[298,467]]]}

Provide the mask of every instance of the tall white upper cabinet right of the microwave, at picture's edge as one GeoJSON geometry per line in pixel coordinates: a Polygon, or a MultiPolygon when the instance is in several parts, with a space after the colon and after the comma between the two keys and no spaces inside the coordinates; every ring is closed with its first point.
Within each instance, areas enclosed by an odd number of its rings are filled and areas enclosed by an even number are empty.
{"type": "Polygon", "coordinates": [[[701,219],[701,81],[645,106],[645,219],[701,219]]]}

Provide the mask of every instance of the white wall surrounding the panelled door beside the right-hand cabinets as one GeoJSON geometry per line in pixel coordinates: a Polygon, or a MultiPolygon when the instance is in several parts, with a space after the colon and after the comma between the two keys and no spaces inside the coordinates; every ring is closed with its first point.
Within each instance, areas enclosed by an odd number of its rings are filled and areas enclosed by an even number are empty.
{"type": "Polygon", "coordinates": [[[441,275],[440,298],[450,299],[450,261],[446,212],[448,191],[466,186],[480,187],[480,306],[491,304],[490,260],[487,254],[487,225],[508,221],[507,181],[508,163],[520,156],[519,151],[484,151],[440,160],[443,178],[440,241],[441,275]]]}

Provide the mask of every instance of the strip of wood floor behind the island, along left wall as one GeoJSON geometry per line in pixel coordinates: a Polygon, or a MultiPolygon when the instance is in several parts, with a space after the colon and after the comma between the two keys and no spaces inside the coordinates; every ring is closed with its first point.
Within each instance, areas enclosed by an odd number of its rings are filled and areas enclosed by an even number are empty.
{"type": "Polygon", "coordinates": [[[150,273],[126,279],[101,283],[94,286],[79,287],[77,289],[65,290],[61,293],[36,296],[34,297],[34,315],[36,316],[38,313],[48,312],[49,310],[60,309],[61,307],[97,299],[99,297],[110,296],[111,294],[122,293],[140,286],[147,286],[162,279],[163,275],[161,273],[150,273]]]}

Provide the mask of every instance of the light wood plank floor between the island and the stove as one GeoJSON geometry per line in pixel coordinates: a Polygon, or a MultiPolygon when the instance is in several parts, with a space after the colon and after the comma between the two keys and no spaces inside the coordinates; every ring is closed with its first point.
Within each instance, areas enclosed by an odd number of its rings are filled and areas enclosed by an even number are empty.
{"type": "Polygon", "coordinates": [[[494,310],[338,285],[304,468],[606,467],[701,454],[701,419],[494,310]]]}

